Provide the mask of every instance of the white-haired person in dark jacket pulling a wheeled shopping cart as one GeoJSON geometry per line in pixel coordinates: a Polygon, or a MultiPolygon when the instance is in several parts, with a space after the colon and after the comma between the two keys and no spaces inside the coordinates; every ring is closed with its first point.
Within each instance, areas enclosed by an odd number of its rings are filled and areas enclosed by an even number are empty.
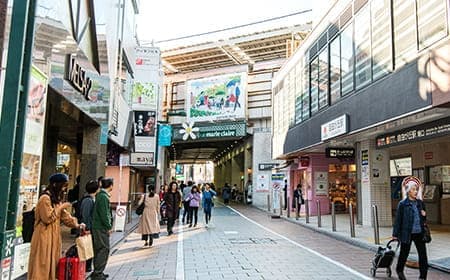
{"type": "Polygon", "coordinates": [[[419,186],[415,181],[407,182],[404,188],[407,196],[398,204],[392,232],[392,238],[400,242],[400,255],[396,271],[400,280],[406,279],[403,270],[411,249],[411,243],[414,241],[419,254],[419,279],[426,279],[428,258],[423,240],[426,223],[425,204],[417,198],[419,186]]]}

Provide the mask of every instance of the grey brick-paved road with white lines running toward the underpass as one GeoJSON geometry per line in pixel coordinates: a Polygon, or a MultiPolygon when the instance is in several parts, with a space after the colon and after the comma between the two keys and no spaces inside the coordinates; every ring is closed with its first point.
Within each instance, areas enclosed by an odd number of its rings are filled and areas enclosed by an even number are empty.
{"type": "MultiPolygon", "coordinates": [[[[151,248],[131,234],[110,257],[109,279],[371,279],[373,253],[255,208],[216,207],[213,223],[179,224],[175,235],[162,233],[151,248]]],[[[418,271],[407,275],[417,278],[418,271]]],[[[436,271],[429,276],[449,279],[436,271]]]]}

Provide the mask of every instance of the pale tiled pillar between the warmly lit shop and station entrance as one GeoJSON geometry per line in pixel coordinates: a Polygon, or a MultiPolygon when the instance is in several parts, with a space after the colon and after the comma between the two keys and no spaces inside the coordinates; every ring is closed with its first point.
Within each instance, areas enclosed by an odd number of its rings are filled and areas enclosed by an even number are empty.
{"type": "Polygon", "coordinates": [[[389,152],[375,149],[375,140],[358,145],[358,173],[361,178],[362,224],[371,226],[372,205],[378,206],[380,226],[392,225],[389,152]]]}

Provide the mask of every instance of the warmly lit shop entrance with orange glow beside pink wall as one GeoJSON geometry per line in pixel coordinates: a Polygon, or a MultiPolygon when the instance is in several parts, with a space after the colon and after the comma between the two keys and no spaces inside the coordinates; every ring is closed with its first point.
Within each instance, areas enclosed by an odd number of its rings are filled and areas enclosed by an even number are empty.
{"type": "Polygon", "coordinates": [[[350,203],[356,211],[356,165],[329,164],[328,184],[330,203],[337,213],[347,213],[350,203]]]}

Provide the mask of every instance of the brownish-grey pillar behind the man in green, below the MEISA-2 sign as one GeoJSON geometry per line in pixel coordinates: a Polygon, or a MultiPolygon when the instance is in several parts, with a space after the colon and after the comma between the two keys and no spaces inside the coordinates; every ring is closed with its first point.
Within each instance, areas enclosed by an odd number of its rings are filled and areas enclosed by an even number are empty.
{"type": "Polygon", "coordinates": [[[84,186],[89,180],[97,180],[99,176],[105,174],[106,145],[100,145],[100,135],[100,126],[86,126],[83,129],[80,198],[83,196],[84,186]]]}

